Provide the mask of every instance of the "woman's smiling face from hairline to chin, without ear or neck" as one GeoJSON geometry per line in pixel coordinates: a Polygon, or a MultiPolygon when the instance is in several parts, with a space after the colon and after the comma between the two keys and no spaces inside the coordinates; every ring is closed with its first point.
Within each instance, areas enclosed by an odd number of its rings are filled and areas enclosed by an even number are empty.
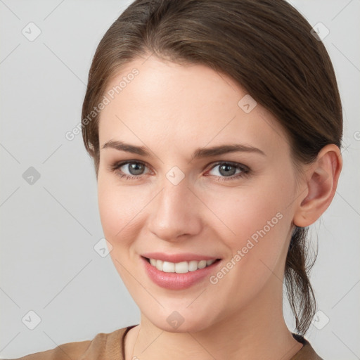
{"type": "Polygon", "coordinates": [[[281,306],[302,191],[274,117],[229,77],[155,56],[129,63],[105,96],[101,223],[115,267],[143,316],[183,332],[273,300],[281,306]],[[238,150],[214,150],[223,146],[238,150]],[[144,259],[150,252],[174,261],[165,268],[153,262],[158,270],[144,259]],[[201,259],[221,260],[195,270],[204,266],[195,262],[201,259]],[[174,269],[179,273],[167,272],[174,269]],[[184,321],[179,330],[176,321],[184,321]]]}

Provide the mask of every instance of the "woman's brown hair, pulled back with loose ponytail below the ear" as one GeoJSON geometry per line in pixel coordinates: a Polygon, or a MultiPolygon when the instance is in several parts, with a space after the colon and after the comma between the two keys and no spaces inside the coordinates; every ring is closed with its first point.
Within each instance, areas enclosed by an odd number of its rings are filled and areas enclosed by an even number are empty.
{"type": "MultiPolygon", "coordinates": [[[[294,163],[309,163],[329,143],[341,147],[342,106],[333,65],[311,25],[285,0],[136,0],[101,40],[89,71],[82,134],[98,174],[98,115],[110,78],[131,60],[155,54],[203,64],[233,78],[282,125],[294,163]],[[85,118],[87,121],[85,122],[85,118]]],[[[285,285],[304,335],[316,310],[307,228],[293,232],[285,285]]]]}

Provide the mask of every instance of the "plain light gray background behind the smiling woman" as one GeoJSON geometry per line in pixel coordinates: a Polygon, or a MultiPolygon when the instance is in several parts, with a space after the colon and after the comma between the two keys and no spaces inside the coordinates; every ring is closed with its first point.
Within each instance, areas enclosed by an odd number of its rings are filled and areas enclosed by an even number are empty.
{"type": "MultiPolygon", "coordinates": [[[[65,139],[81,120],[98,41],[130,2],[0,0],[3,358],[139,323],[139,309],[110,256],[94,250],[103,233],[82,136],[65,139]],[[34,41],[22,34],[30,22],[41,30],[34,41]],[[41,175],[32,185],[23,179],[29,167],[41,175]],[[22,322],[30,310],[41,318],[34,330],[22,322]]],[[[335,66],[345,122],[338,191],[313,226],[319,257],[311,281],[323,313],[307,338],[324,359],[360,359],[360,1],[291,3],[311,25],[321,22],[330,30],[323,42],[335,66]]],[[[291,327],[288,307],[285,317],[291,327]]]]}

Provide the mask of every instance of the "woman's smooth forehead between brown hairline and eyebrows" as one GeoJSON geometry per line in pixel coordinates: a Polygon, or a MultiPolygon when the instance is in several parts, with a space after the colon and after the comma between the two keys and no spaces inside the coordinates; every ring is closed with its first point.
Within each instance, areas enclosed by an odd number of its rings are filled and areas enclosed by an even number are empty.
{"type": "Polygon", "coordinates": [[[105,96],[109,103],[99,120],[101,146],[110,139],[138,145],[151,141],[178,150],[224,141],[287,146],[269,111],[233,79],[205,65],[179,65],[155,56],[136,59],[111,79],[105,96]]]}

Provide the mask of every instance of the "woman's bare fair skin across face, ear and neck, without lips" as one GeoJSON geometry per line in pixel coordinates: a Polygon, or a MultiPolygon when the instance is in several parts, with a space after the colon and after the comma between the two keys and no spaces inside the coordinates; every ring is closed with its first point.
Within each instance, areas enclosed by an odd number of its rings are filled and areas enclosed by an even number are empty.
{"type": "MultiPolygon", "coordinates": [[[[108,89],[137,68],[139,75],[101,112],[98,205],[110,256],[141,311],[125,338],[125,359],[291,359],[302,347],[283,319],[283,272],[293,226],[309,226],[335,193],[342,160],[337,146],[321,150],[299,174],[288,139],[269,111],[238,106],[246,91],[204,65],[179,65],[151,56],[133,60],[108,89]],[[108,141],[145,146],[150,157],[102,148],[108,141]],[[240,143],[255,152],[192,160],[197,148],[240,143]],[[129,164],[120,177],[110,170],[129,164]],[[250,173],[235,178],[216,162],[250,173]],[[166,177],[179,167],[177,185],[166,177]],[[135,174],[135,175],[134,175],[135,174]],[[229,178],[233,179],[229,179],[229,178]],[[221,181],[221,179],[228,179],[221,181]],[[155,285],[143,270],[145,252],[193,252],[221,258],[216,274],[276,214],[281,220],[217,284],[208,278],[186,290],[155,285]],[[184,318],[172,328],[167,317],[184,318]]],[[[233,169],[233,168],[231,168],[233,169]]]]}

